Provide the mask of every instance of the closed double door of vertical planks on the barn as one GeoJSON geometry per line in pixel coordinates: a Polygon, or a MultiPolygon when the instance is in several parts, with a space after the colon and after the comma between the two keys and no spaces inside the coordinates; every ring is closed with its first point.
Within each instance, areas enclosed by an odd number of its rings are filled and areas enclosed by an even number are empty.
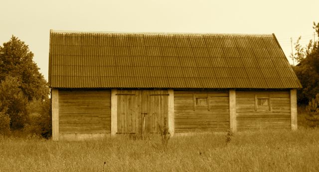
{"type": "Polygon", "coordinates": [[[167,90],[118,90],[118,134],[158,133],[168,114],[167,90]]]}

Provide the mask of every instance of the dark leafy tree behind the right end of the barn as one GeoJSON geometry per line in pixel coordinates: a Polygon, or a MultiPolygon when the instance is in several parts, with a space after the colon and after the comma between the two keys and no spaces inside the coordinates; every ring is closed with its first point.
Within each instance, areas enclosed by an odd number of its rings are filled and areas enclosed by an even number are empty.
{"type": "MultiPolygon", "coordinates": [[[[313,27],[319,35],[319,23],[313,27]]],[[[298,65],[293,67],[298,76],[302,89],[298,90],[298,103],[308,104],[319,93],[319,43],[312,42],[302,47],[299,41],[295,46],[298,65]]]]}

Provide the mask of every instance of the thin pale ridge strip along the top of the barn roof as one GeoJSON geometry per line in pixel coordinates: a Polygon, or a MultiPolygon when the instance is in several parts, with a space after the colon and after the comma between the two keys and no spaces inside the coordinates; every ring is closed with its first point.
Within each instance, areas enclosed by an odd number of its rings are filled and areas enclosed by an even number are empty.
{"type": "Polygon", "coordinates": [[[196,33],[196,32],[121,32],[121,31],[79,31],[79,30],[53,30],[50,33],[100,33],[100,34],[154,34],[154,35],[256,35],[256,36],[273,36],[273,33],[196,33]]]}

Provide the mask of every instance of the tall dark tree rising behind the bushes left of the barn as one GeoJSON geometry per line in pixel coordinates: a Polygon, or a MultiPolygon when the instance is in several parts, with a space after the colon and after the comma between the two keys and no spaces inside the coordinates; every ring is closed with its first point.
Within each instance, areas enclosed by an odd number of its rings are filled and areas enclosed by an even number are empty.
{"type": "Polygon", "coordinates": [[[0,81],[6,76],[15,77],[29,101],[44,100],[48,97],[49,88],[32,58],[33,53],[28,45],[12,35],[8,42],[3,43],[3,47],[0,46],[0,81]]]}

